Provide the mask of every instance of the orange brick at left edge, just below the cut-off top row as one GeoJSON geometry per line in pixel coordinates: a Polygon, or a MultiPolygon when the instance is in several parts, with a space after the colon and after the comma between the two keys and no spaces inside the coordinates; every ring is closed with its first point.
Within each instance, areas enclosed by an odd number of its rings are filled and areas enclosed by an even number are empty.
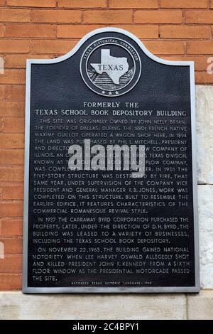
{"type": "Polygon", "coordinates": [[[0,9],[1,22],[29,22],[31,11],[28,9],[0,9]]]}

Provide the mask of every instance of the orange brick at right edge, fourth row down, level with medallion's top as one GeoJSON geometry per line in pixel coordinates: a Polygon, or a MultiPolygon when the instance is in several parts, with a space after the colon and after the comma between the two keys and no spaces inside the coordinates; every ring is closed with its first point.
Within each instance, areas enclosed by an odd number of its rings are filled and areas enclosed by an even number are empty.
{"type": "Polygon", "coordinates": [[[212,55],[212,41],[189,41],[187,42],[187,54],[194,55],[212,55]]]}

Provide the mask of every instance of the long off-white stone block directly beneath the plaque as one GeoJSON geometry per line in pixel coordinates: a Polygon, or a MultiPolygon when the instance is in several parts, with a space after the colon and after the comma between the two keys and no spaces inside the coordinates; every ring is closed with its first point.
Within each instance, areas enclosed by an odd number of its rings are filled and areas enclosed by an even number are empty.
{"type": "Polygon", "coordinates": [[[185,294],[55,294],[0,292],[0,319],[186,319],[185,294]]]}

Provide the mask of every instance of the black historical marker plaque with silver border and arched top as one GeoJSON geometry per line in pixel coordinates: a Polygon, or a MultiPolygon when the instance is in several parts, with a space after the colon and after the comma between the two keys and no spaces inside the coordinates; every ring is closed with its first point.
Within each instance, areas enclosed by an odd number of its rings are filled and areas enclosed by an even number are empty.
{"type": "Polygon", "coordinates": [[[28,60],[23,292],[197,292],[192,62],[127,31],[28,60]]]}

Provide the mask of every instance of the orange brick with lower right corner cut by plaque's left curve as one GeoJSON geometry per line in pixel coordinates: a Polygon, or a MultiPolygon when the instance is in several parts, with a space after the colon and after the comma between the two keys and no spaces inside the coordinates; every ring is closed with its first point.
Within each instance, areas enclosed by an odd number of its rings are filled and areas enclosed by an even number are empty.
{"type": "Polygon", "coordinates": [[[72,50],[77,41],[32,41],[32,51],[35,53],[59,53],[65,54],[72,50]]]}

